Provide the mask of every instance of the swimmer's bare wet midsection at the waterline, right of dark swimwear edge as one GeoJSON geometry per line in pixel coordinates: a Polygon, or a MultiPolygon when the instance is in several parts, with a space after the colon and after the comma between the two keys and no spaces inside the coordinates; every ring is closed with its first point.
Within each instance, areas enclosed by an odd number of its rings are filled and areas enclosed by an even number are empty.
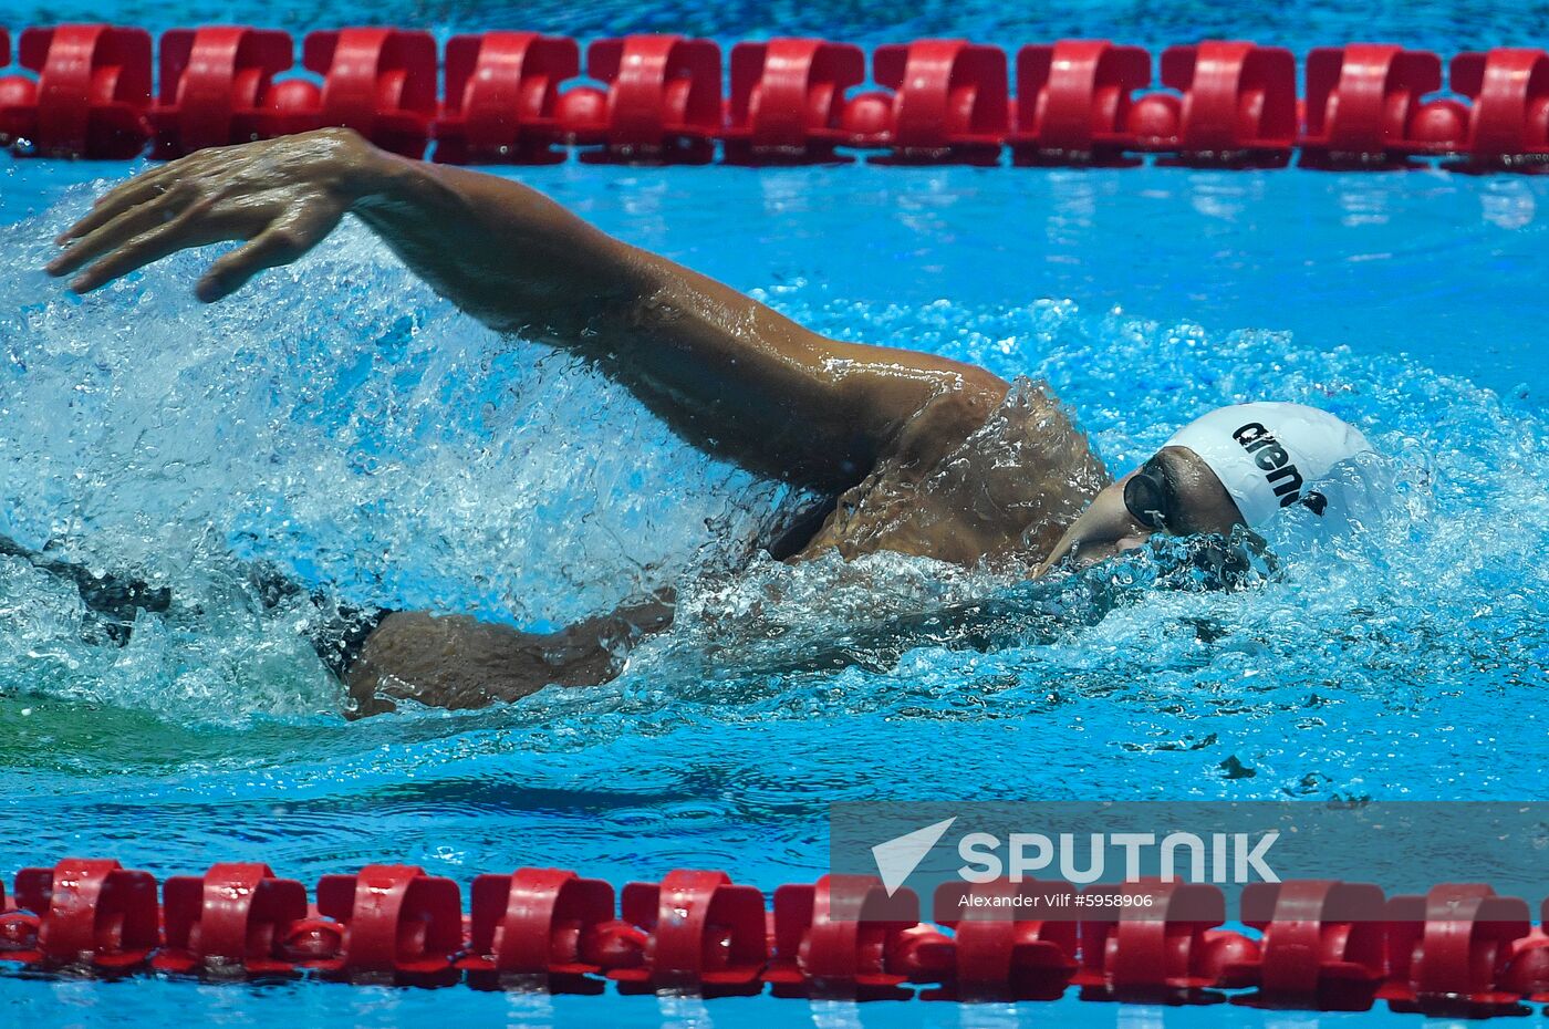
{"type": "Polygon", "coordinates": [[[355,700],[349,714],[392,711],[395,700],[476,708],[550,685],[601,685],[621,671],[634,643],[671,623],[671,594],[550,634],[466,615],[395,612],[375,626],[344,674],[355,700]]]}

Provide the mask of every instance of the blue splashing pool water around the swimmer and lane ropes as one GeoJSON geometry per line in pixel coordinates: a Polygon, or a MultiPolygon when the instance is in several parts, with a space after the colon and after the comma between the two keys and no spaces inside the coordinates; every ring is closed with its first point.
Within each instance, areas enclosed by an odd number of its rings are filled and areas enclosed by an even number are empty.
{"type": "MultiPolygon", "coordinates": [[[[431,8],[400,20],[497,14],[431,8]]],[[[198,14],[146,9],[124,17],[198,14]]],[[[1298,46],[1365,25],[1355,8],[1292,9],[1307,19],[1241,17],[1298,46]]],[[[1397,25],[1397,9],[1379,17],[1397,25]]],[[[1047,31],[1007,22],[987,37],[1069,34],[1060,11],[1047,31]]],[[[1101,12],[1066,11],[1083,25],[1101,12]]],[[[1180,39],[1200,14],[1162,11],[1174,20],[1131,37],[1180,39]]],[[[1424,39],[1402,42],[1504,39],[1462,39],[1506,25],[1499,11],[1416,11],[1424,39]]],[[[846,12],[884,34],[886,11],[846,12]]],[[[953,15],[920,17],[940,31],[953,15]]],[[[993,22],[973,5],[960,17],[965,31],[993,22]]],[[[1115,470],[1199,411],[1272,395],[1362,425],[1397,484],[1334,555],[1286,545],[1283,575],[1247,592],[1156,587],[1145,553],[1089,573],[1112,587],[1106,617],[1055,618],[1050,590],[1070,584],[1029,590],[900,556],[750,561],[788,497],[691,451],[595,373],[477,327],[358,226],[214,308],[189,293],[209,254],[67,296],[34,271],[46,240],[130,170],[0,163],[0,532],[177,598],[129,646],[87,645],[73,590],[0,559],[5,872],[105,854],[161,876],[265,860],[313,880],[403,860],[462,882],[553,863],[613,882],[723,868],[771,888],[824,871],[827,804],[844,800],[1549,798],[1546,178],[500,172],[821,332],[1044,377],[1115,470]],[[254,611],[240,589],[256,559],[345,598],[522,626],[665,584],[685,614],[598,690],[349,724],[296,612],[254,611]],[[846,671],[784,671],[963,600],[1008,611],[988,652],[917,637],[846,671]]],[[[1295,527],[1278,532],[1293,542],[1295,527]]],[[[173,1010],[361,1026],[1402,1021],[6,975],[0,1007],[17,1024],[173,1010]]]]}

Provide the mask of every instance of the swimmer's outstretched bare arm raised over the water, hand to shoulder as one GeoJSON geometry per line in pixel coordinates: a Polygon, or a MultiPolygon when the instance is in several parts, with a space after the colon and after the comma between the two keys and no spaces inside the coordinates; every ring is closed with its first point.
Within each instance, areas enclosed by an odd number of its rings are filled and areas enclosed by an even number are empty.
{"type": "Polygon", "coordinates": [[[962,440],[1007,391],[946,358],[827,339],[520,183],[338,129],[146,172],[60,237],[50,271],[88,291],[180,250],[248,240],[198,280],[200,299],[217,301],[347,212],[480,321],[596,361],[689,442],[762,474],[846,488],[889,451],[962,440]]]}

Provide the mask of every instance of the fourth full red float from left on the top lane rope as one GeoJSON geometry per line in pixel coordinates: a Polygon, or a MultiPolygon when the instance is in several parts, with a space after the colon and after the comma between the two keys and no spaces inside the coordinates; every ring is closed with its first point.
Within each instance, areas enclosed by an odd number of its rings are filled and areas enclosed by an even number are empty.
{"type": "Polygon", "coordinates": [[[555,164],[559,84],[581,73],[573,39],[538,33],[454,36],[446,43],[446,104],[435,160],[449,164],[555,164]]]}

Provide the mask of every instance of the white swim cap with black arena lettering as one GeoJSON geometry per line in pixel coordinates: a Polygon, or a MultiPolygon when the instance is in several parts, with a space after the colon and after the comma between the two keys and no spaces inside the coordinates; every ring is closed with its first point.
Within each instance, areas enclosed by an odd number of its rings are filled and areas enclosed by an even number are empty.
{"type": "Polygon", "coordinates": [[[1298,501],[1318,514],[1329,504],[1310,485],[1371,445],[1327,411],[1290,403],[1218,408],[1173,434],[1210,466],[1248,525],[1262,525],[1298,501]]]}

